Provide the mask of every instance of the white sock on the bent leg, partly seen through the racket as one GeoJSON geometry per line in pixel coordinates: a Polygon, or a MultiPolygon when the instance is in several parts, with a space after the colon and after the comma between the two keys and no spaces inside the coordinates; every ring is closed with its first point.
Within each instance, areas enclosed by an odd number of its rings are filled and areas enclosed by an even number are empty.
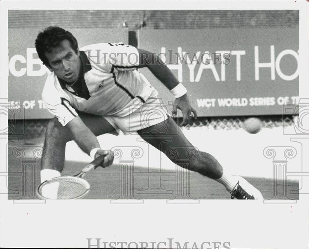
{"type": "MultiPolygon", "coordinates": [[[[41,170],[41,182],[45,182],[46,180],[50,180],[54,177],[60,176],[60,172],[57,170],[45,169],[41,170]]],[[[42,195],[49,199],[57,199],[59,183],[51,183],[47,184],[42,188],[42,195]]]]}

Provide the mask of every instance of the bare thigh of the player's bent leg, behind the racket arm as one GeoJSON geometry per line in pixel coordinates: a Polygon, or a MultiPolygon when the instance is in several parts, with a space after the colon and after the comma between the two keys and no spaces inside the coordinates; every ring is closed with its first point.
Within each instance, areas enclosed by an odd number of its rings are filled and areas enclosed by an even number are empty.
{"type": "Polygon", "coordinates": [[[99,136],[105,133],[116,135],[115,128],[103,117],[94,114],[78,112],[79,117],[84,124],[93,132],[94,135],[99,136]]]}

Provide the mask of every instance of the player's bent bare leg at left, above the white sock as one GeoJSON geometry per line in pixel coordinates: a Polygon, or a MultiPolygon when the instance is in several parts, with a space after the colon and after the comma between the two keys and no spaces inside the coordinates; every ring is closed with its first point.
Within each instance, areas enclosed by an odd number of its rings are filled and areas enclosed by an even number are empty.
{"type": "MultiPolygon", "coordinates": [[[[101,116],[79,113],[79,117],[96,136],[115,131],[114,127],[101,116]]],[[[73,137],[68,128],[63,127],[57,118],[51,119],[46,129],[45,156],[41,161],[41,170],[58,172],[63,170],[66,143],[70,140],[73,140],[73,137]]]]}

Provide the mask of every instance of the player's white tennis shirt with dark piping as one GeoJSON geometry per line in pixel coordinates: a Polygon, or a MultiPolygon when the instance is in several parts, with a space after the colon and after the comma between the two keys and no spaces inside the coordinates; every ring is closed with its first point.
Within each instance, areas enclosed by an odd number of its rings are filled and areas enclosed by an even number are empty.
{"type": "Polygon", "coordinates": [[[42,99],[65,126],[78,114],[124,117],[141,106],[155,89],[136,69],[139,53],[123,43],[98,43],[80,49],[83,75],[72,87],[54,72],[47,76],[42,99]]]}

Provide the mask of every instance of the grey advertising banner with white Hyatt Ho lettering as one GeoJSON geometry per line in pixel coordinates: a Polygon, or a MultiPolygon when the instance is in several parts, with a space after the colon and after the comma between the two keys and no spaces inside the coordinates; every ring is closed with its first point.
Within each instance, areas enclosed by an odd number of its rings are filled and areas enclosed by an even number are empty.
{"type": "MultiPolygon", "coordinates": [[[[142,30],[139,38],[187,88],[198,116],[282,114],[298,98],[297,27],[142,30]]],[[[141,72],[163,103],[174,100],[148,69],[141,72]]]]}

